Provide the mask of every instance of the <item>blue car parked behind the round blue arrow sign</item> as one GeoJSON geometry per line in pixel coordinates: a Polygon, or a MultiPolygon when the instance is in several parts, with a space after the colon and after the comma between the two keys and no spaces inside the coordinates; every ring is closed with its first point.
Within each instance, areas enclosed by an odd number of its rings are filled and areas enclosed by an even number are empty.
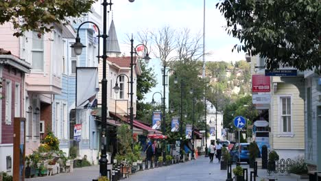
{"type": "Polygon", "coordinates": [[[248,152],[248,146],[250,143],[236,143],[230,150],[230,158],[233,162],[249,162],[250,153],[248,152]],[[241,153],[239,154],[239,145],[241,145],[241,153]]]}

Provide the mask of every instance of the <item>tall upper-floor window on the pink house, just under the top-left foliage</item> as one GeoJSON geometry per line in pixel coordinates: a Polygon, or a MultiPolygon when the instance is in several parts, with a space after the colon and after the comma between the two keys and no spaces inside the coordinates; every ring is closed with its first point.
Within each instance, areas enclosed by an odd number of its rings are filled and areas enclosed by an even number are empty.
{"type": "Polygon", "coordinates": [[[32,69],[43,71],[43,35],[32,32],[32,69]]]}

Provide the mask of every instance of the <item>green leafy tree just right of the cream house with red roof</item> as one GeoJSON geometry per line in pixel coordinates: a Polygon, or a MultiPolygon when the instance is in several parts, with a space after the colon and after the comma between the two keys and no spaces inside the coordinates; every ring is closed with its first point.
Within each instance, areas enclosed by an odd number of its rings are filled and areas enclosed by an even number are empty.
{"type": "Polygon", "coordinates": [[[141,75],[137,77],[137,102],[136,119],[145,120],[145,115],[152,110],[152,105],[143,102],[144,95],[150,92],[150,89],[156,86],[156,79],[152,68],[147,68],[145,63],[140,60],[141,75]]]}

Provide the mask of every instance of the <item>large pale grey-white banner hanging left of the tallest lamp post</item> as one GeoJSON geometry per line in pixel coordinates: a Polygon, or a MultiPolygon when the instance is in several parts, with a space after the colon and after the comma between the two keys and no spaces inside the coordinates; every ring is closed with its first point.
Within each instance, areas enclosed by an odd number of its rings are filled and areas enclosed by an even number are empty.
{"type": "Polygon", "coordinates": [[[99,91],[97,67],[76,68],[76,107],[97,108],[99,91]]]}

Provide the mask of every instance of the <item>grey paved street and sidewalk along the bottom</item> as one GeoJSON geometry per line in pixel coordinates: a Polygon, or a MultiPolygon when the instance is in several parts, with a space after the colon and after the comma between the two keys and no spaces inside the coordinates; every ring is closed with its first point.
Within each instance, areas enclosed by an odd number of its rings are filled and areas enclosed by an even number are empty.
{"type": "MultiPolygon", "coordinates": [[[[248,165],[241,165],[243,168],[248,168],[248,165]]],[[[233,165],[232,169],[235,167],[233,165]]],[[[248,176],[250,176],[249,169],[248,176]]],[[[192,160],[189,162],[183,162],[176,165],[170,165],[167,167],[159,167],[156,169],[149,169],[145,171],[138,171],[132,175],[130,178],[125,179],[129,181],[167,181],[167,180],[182,180],[182,181],[203,181],[203,180],[226,180],[226,170],[220,170],[220,165],[217,159],[213,163],[209,163],[209,158],[204,158],[200,156],[197,160],[192,160]]],[[[97,178],[99,174],[99,166],[95,165],[93,167],[82,167],[74,169],[73,173],[60,173],[56,176],[46,176],[41,178],[26,179],[30,181],[60,181],[60,180],[77,180],[77,181],[88,181],[97,178]]],[[[261,181],[262,178],[277,178],[278,181],[292,181],[296,180],[287,176],[284,173],[283,176],[275,174],[268,176],[266,170],[258,170],[257,180],[261,181]]],[[[250,180],[250,178],[248,178],[250,180]]],[[[267,179],[265,179],[267,180],[267,179]]]]}

